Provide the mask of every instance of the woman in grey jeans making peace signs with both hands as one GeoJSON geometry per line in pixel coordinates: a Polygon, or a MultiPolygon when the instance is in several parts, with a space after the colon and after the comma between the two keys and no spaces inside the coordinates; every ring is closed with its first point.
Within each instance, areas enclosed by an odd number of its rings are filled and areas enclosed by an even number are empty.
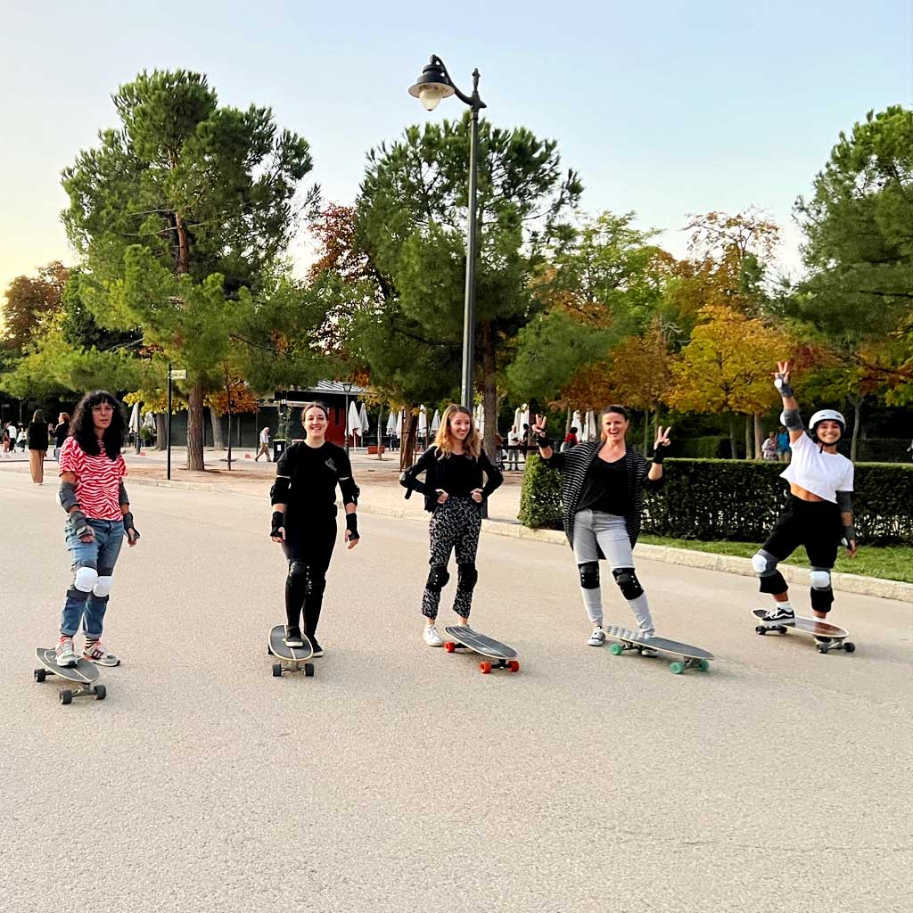
{"type": "Polygon", "coordinates": [[[628,415],[624,406],[610,405],[600,414],[600,440],[556,452],[545,434],[546,420],[536,416],[533,434],[540,456],[561,472],[564,532],[580,571],[583,605],[593,634],[587,643],[602,646],[603,602],[599,560],[608,561],[622,595],[634,612],[640,634],[656,634],[644,588],[637,580],[632,550],[640,533],[644,488],[663,487],[662,447],[669,445],[669,428],[656,430],[651,463],[625,441],[628,415]]]}

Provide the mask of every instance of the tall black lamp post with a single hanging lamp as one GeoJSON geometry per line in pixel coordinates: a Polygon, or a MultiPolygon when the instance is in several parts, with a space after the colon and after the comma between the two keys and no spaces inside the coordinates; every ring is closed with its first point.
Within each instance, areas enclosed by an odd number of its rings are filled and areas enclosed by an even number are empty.
{"type": "Polygon", "coordinates": [[[472,408],[472,369],[476,348],[476,185],[477,185],[477,149],[478,149],[478,112],[488,107],[478,97],[478,69],[472,72],[472,95],[464,95],[444,66],[444,61],[436,54],[422,70],[422,75],[410,86],[409,94],[420,100],[425,110],[433,111],[441,99],[456,95],[472,111],[471,130],[469,132],[469,218],[466,242],[466,303],[463,308],[463,405],[472,408]]]}

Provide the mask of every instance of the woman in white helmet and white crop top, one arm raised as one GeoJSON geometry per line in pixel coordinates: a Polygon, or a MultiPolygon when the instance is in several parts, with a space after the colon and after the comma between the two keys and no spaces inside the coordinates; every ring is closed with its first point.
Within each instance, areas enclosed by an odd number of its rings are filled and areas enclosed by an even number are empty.
{"type": "Polygon", "coordinates": [[[751,559],[761,578],[761,593],[771,593],[773,608],[763,621],[782,624],[792,621],[786,581],[777,564],[800,545],[805,546],[812,565],[812,611],[826,618],[834,602],[831,571],[841,536],[850,558],[855,557],[853,526],[853,464],[837,453],[844,435],[844,416],[834,409],[822,409],[812,416],[809,431],[803,429],[799,406],[792,395],[789,362],[778,362],[774,386],[783,398],[782,423],[790,433],[792,462],[781,477],[790,483],[790,496],[767,541],[751,559]]]}

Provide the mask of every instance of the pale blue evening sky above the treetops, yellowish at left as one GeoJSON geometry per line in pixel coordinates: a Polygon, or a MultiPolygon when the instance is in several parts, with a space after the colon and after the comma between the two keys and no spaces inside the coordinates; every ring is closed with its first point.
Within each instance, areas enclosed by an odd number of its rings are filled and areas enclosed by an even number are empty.
{"type": "MultiPolygon", "coordinates": [[[[407,94],[431,54],[466,92],[479,69],[494,125],[558,141],[584,213],[634,211],[683,256],[688,214],[757,206],[794,274],[792,206],[840,132],[913,98],[913,3],[0,0],[0,289],[75,264],[60,171],[118,125],[110,96],[142,69],[193,69],[222,104],[268,105],[310,142],[305,183],[352,203],[370,148],[462,115],[407,94]]],[[[306,237],[293,256],[306,265],[306,237]]]]}

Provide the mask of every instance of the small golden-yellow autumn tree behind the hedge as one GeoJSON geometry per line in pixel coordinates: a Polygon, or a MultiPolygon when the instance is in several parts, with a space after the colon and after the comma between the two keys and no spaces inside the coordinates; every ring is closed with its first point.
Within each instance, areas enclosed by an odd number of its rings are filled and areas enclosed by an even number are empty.
{"type": "Polygon", "coordinates": [[[771,364],[787,357],[791,342],[761,320],[746,319],[719,305],[705,308],[702,317],[704,322],[695,327],[691,341],[672,362],[672,389],[666,404],[683,412],[729,413],[734,457],[733,414],[758,415],[775,404],[771,364]]]}

